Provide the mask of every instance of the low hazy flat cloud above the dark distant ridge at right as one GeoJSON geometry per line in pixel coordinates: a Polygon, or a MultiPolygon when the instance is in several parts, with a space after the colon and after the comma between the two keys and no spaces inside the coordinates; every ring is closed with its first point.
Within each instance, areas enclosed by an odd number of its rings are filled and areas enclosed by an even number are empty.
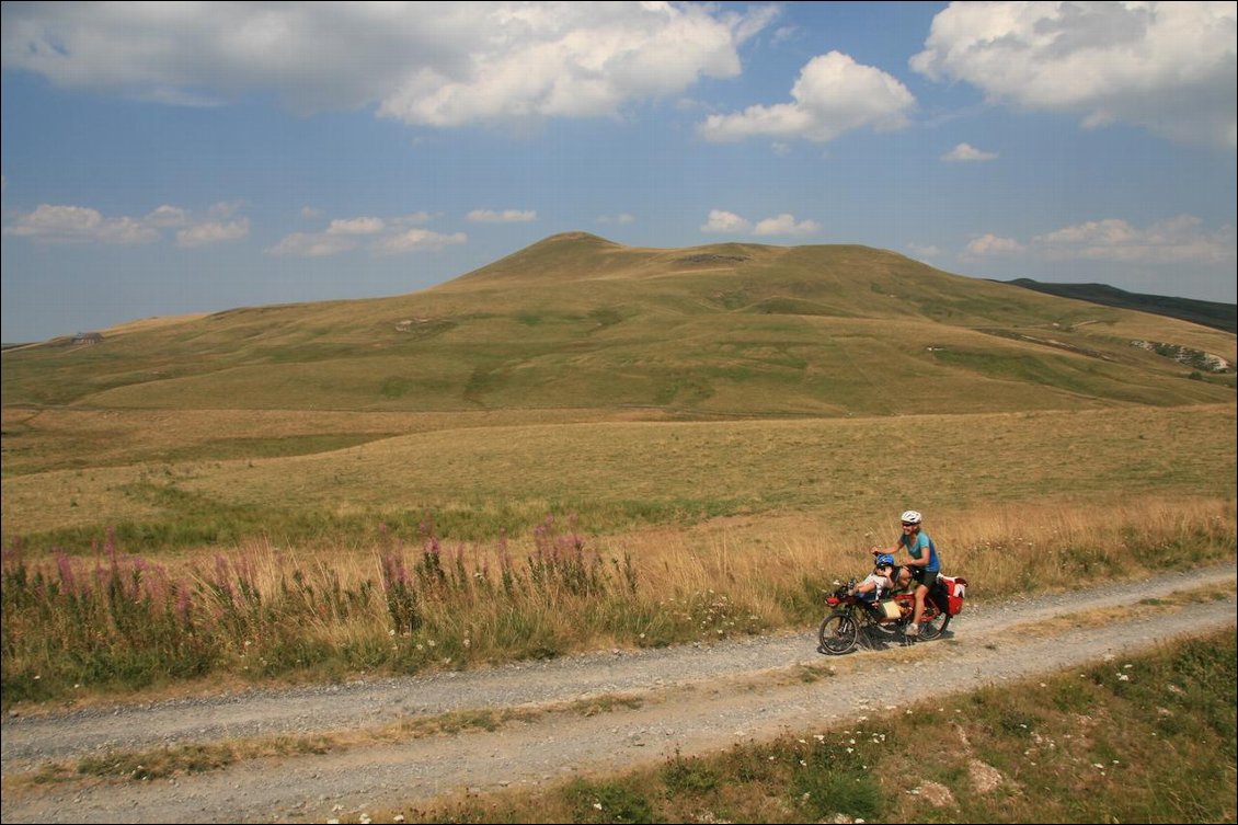
{"type": "Polygon", "coordinates": [[[1236,258],[1234,229],[1216,232],[1188,214],[1135,227],[1104,218],[1036,235],[1028,243],[987,234],[967,245],[976,258],[1028,254],[1046,260],[1097,260],[1128,264],[1226,264],[1236,258]]]}

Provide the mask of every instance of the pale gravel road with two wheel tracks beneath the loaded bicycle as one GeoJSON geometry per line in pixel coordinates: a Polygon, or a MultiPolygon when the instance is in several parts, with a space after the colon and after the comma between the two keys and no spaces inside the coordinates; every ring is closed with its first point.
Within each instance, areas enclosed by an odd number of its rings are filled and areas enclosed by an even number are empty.
{"type": "Polygon", "coordinates": [[[4,823],[326,821],[457,790],[531,785],[817,731],[864,714],[1051,673],[1234,626],[1233,562],[1104,587],[968,602],[948,638],[816,652],[815,628],[712,645],[602,652],[467,673],[280,691],[10,715],[2,721],[4,823]],[[1213,600],[1140,600],[1206,583],[1213,600]],[[822,678],[803,679],[805,669],[822,678]],[[638,705],[584,715],[565,705],[624,696],[638,705]],[[48,761],[240,737],[355,733],[470,709],[525,709],[493,732],[378,737],[326,754],[250,759],[152,782],[15,782],[48,761]]]}

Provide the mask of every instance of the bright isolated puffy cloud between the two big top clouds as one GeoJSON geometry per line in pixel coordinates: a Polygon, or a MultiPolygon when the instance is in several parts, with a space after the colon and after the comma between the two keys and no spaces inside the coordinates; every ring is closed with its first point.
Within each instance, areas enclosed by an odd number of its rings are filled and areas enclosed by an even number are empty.
{"type": "Polygon", "coordinates": [[[800,71],[791,98],[791,103],[711,115],[698,130],[713,141],[760,135],[826,142],[855,129],[901,129],[916,102],[896,78],[842,52],[813,57],[800,71]]]}

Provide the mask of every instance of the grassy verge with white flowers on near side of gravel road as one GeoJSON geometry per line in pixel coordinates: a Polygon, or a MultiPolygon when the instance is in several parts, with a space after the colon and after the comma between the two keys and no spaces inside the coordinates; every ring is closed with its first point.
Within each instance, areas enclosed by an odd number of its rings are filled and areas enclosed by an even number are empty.
{"type": "Polygon", "coordinates": [[[1234,631],[617,775],[342,823],[1224,823],[1234,631]]]}

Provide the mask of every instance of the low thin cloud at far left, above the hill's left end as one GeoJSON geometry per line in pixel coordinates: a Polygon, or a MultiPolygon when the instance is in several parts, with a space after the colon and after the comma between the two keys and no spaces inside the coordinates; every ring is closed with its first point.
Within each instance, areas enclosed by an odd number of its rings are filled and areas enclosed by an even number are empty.
{"type": "MultiPolygon", "coordinates": [[[[209,217],[217,217],[222,211],[229,214],[235,207],[215,204],[208,209],[209,217]]],[[[176,229],[177,244],[181,247],[206,247],[217,243],[239,240],[249,234],[249,220],[219,222],[194,218],[187,209],[162,204],[145,217],[121,216],[105,217],[98,209],[82,206],[47,204],[38,206],[33,212],[17,214],[4,228],[4,234],[15,238],[28,238],[36,243],[103,243],[118,245],[140,245],[156,243],[162,238],[163,229],[176,229]]]]}

